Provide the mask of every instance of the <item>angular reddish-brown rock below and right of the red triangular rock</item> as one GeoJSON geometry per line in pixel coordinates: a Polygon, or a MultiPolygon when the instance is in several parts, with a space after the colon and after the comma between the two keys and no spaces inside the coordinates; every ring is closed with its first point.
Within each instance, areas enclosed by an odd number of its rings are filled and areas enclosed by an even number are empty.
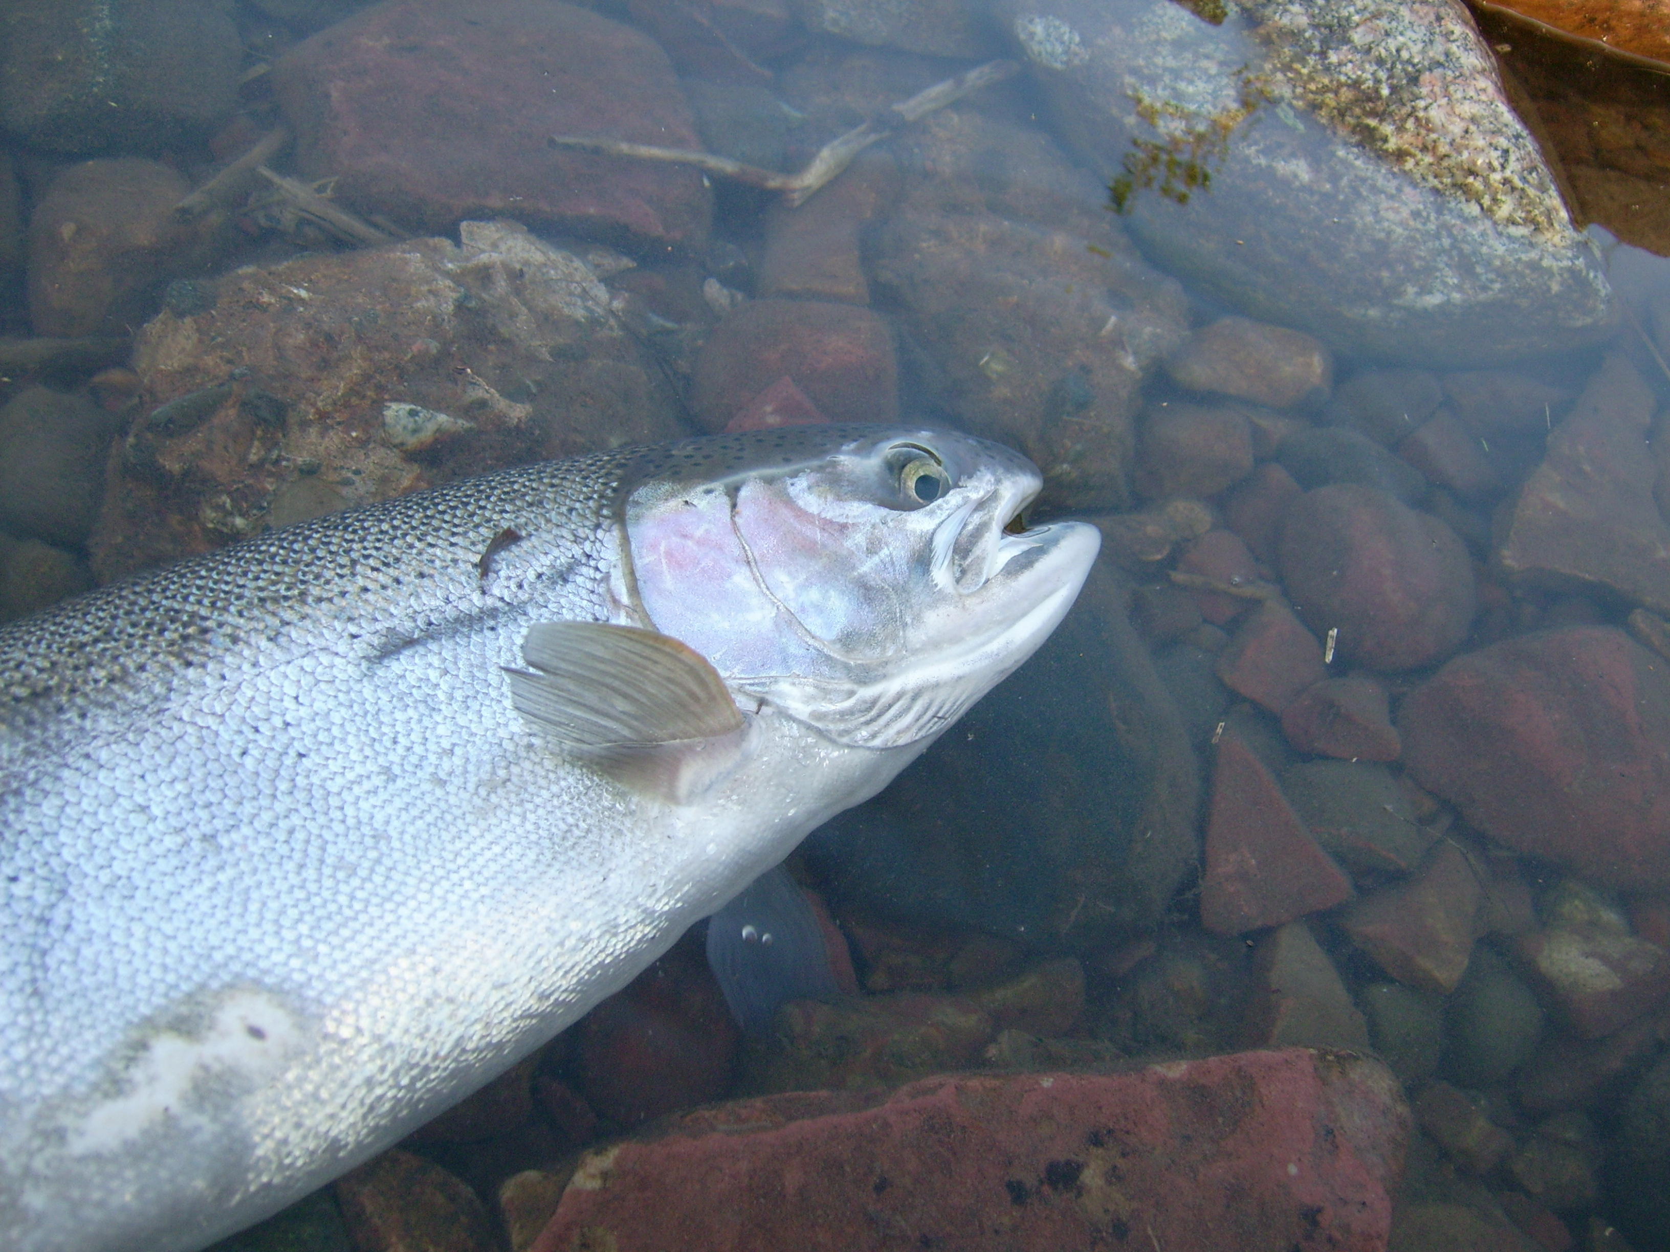
{"type": "Polygon", "coordinates": [[[1480,895],[1466,853],[1440,840],[1414,876],[1359,900],[1341,925],[1398,982],[1450,995],[1473,955],[1480,895]]]}

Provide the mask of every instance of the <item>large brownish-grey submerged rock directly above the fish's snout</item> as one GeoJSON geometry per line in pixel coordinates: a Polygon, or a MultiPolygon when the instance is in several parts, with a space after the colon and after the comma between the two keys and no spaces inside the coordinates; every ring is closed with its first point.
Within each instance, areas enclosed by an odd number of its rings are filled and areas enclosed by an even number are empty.
{"type": "Polygon", "coordinates": [[[1181,289],[1035,130],[944,110],[898,149],[873,287],[937,366],[929,404],[1030,456],[1047,502],[1126,506],[1142,384],[1186,332],[1181,289]]]}

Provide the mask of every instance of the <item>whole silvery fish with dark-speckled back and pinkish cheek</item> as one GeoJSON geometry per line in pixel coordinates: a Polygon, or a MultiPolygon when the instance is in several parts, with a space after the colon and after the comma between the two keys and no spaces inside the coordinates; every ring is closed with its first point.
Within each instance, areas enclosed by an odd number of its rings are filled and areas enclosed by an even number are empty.
{"type": "Polygon", "coordinates": [[[623,987],[1054,628],[1096,533],[1010,524],[1037,486],[935,431],[691,441],[0,629],[0,1247],[192,1252],[623,987]],[[641,696],[539,671],[564,629],[711,666],[718,729],[584,741],[641,696]]]}

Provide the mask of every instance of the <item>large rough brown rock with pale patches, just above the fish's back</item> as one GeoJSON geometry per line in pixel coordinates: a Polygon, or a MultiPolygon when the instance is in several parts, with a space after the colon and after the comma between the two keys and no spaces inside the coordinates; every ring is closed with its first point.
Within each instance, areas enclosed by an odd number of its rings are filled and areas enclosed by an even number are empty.
{"type": "Polygon", "coordinates": [[[584,262],[509,222],[459,237],[240,269],[210,307],[145,326],[140,416],[89,544],[99,576],[538,456],[688,434],[584,262]]]}

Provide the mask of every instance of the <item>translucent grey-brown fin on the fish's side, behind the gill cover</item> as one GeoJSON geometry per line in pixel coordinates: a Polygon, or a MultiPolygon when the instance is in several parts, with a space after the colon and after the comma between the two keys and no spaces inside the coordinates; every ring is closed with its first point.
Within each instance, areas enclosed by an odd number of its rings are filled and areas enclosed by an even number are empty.
{"type": "Polygon", "coordinates": [[[544,621],[506,669],[516,711],[563,751],[645,795],[688,803],[741,756],[748,721],[695,649],[635,626],[544,621]]]}

